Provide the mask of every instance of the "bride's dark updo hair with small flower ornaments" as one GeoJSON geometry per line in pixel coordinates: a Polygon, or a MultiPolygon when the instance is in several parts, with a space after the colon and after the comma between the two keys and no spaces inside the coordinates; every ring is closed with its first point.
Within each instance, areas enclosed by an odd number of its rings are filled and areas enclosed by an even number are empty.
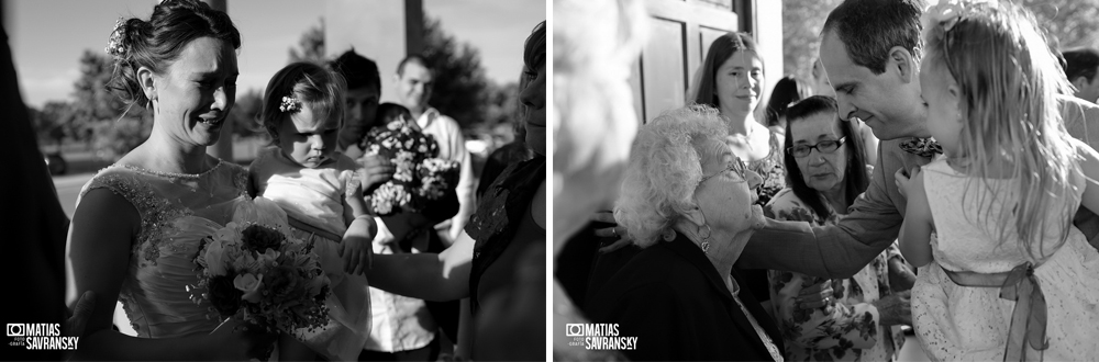
{"type": "Polygon", "coordinates": [[[147,67],[163,73],[187,44],[200,37],[218,38],[234,49],[241,48],[241,33],[229,15],[198,0],[162,1],[153,8],[148,21],[120,19],[107,46],[107,53],[114,58],[107,89],[129,106],[149,106],[137,69],[147,67]]]}

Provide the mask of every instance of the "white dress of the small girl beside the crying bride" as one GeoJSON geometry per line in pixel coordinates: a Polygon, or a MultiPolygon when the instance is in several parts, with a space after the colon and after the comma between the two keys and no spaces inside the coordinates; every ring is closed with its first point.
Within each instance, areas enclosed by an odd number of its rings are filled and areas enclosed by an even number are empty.
{"type": "Polygon", "coordinates": [[[325,237],[290,224],[296,237],[313,242],[321,268],[331,280],[329,326],[308,333],[304,342],[329,360],[357,361],[370,336],[370,295],[365,276],[344,272],[338,247],[347,230],[343,200],[359,186],[359,167],[341,154],[335,158],[333,167],[301,168],[277,147],[267,147],[252,161],[248,172],[257,196],[274,201],[289,218],[331,234],[325,237]]]}

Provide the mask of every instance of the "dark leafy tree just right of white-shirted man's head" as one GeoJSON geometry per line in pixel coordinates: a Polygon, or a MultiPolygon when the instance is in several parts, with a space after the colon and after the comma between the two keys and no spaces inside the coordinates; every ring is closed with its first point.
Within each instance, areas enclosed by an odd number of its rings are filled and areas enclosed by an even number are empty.
{"type": "Polygon", "coordinates": [[[423,43],[423,57],[435,75],[429,104],[453,117],[463,129],[488,121],[491,86],[480,64],[480,52],[469,44],[459,44],[443,31],[437,19],[426,14],[423,43]]]}

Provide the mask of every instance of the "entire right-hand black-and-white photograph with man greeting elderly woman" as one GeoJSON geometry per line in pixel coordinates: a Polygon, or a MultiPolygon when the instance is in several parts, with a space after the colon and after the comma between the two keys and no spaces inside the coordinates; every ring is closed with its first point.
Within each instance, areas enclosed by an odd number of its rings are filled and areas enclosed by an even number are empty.
{"type": "Polygon", "coordinates": [[[554,0],[553,359],[1094,360],[1097,16],[554,0]]]}

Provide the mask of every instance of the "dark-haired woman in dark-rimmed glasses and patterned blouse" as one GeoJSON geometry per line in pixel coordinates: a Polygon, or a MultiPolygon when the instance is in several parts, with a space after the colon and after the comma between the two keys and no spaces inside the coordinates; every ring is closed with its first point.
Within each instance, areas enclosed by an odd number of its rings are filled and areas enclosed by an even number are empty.
{"type": "MultiPolygon", "coordinates": [[[[862,138],[854,123],[836,116],[831,97],[795,103],[787,120],[788,188],[775,194],[764,213],[780,220],[834,225],[869,184],[862,138]]],[[[903,262],[896,244],[848,279],[768,271],[786,359],[892,360],[904,341],[900,326],[892,326],[910,312],[907,296],[890,289],[891,262],[903,262]]]]}

